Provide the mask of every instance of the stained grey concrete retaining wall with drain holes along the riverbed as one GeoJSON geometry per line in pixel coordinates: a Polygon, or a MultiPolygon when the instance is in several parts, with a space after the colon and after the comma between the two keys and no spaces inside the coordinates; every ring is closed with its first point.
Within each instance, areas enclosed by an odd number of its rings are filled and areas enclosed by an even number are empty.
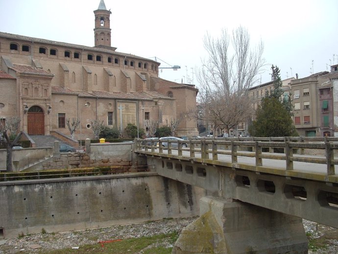
{"type": "Polygon", "coordinates": [[[194,216],[202,196],[150,172],[0,182],[0,237],[194,216]]]}

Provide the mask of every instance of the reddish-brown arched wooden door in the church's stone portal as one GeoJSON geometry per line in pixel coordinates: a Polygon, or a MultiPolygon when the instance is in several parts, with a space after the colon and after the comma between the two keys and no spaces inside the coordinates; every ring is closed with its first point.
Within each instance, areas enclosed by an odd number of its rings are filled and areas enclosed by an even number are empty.
{"type": "Polygon", "coordinates": [[[27,112],[28,135],[45,135],[45,115],[39,106],[32,106],[27,112]]]}

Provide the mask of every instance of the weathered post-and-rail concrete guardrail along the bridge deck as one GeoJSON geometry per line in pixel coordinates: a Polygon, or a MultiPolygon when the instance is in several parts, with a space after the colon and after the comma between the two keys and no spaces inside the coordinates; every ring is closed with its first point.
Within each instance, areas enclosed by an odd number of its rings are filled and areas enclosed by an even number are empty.
{"type": "MultiPolygon", "coordinates": [[[[160,140],[146,140],[151,145],[146,145],[144,139],[135,139],[135,150],[148,152],[164,153],[164,147],[160,140]],[[142,144],[142,142],[144,142],[142,144]]],[[[212,155],[213,160],[218,160],[219,154],[231,155],[231,162],[237,163],[238,156],[255,157],[256,166],[263,166],[263,159],[278,159],[286,161],[286,170],[293,170],[293,162],[308,162],[326,164],[326,175],[335,175],[335,165],[338,159],[334,158],[335,151],[338,151],[337,137],[270,137],[270,138],[199,138],[187,141],[166,140],[168,142],[168,152],[177,151],[178,156],[183,156],[183,151],[190,151],[190,158],[195,157],[199,152],[201,159],[209,159],[212,155]],[[176,143],[177,148],[172,148],[171,144],[176,143]],[[182,143],[188,143],[188,148],[182,148],[182,143]],[[267,149],[267,152],[264,150],[267,149]],[[279,152],[273,152],[279,149],[279,152]],[[320,150],[322,157],[304,156],[305,150],[320,150]],[[281,152],[282,151],[282,152],[281,152]],[[303,155],[303,156],[297,156],[303,155]]]]}

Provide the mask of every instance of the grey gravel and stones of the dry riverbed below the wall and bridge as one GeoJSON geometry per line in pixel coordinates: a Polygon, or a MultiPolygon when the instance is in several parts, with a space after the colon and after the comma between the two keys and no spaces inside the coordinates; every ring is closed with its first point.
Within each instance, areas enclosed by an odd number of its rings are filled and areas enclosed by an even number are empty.
{"type": "MultiPolygon", "coordinates": [[[[85,244],[99,244],[102,241],[112,241],[141,236],[167,234],[173,231],[181,232],[196,217],[180,219],[164,219],[133,225],[113,226],[101,229],[89,229],[70,232],[44,232],[23,237],[0,240],[0,254],[34,254],[48,253],[50,250],[78,248],[85,244]]],[[[317,250],[309,250],[309,254],[338,254],[338,229],[318,225],[303,220],[304,229],[311,239],[325,238],[325,246],[317,250]]],[[[172,247],[163,243],[165,248],[172,247]]]]}

